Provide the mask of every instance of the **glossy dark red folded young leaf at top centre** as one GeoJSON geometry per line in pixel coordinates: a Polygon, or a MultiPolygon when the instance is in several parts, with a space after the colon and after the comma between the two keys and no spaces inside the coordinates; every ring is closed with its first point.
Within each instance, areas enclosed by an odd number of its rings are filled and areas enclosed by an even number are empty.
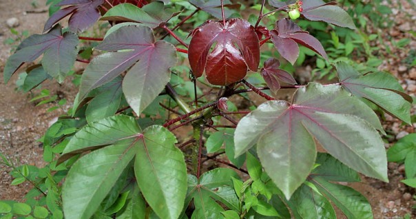
{"type": "Polygon", "coordinates": [[[208,21],[191,34],[188,57],[196,77],[205,70],[209,83],[229,85],[243,79],[247,67],[257,71],[260,43],[247,21],[229,19],[225,26],[219,21],[208,21]]]}

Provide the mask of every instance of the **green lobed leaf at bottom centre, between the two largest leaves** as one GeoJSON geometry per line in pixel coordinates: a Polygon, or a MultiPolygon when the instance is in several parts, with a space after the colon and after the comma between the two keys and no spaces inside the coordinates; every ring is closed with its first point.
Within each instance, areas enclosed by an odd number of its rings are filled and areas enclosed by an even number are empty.
{"type": "Polygon", "coordinates": [[[217,168],[207,171],[198,180],[196,176],[188,176],[188,191],[185,204],[194,200],[195,211],[192,218],[223,218],[221,202],[231,210],[238,211],[240,202],[233,189],[231,177],[239,178],[231,169],[217,168]]]}

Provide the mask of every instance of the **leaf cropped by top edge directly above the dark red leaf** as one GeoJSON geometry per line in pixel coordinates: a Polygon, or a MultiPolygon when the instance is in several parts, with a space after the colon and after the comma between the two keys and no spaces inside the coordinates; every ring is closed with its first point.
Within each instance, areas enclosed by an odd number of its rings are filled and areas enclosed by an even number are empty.
{"type": "MultiPolygon", "coordinates": [[[[222,19],[221,13],[221,1],[220,0],[190,0],[189,3],[193,4],[196,8],[203,10],[217,19],[222,19]]],[[[225,7],[232,6],[231,1],[224,0],[225,7]]],[[[231,10],[224,8],[225,18],[231,15],[231,10]]]]}

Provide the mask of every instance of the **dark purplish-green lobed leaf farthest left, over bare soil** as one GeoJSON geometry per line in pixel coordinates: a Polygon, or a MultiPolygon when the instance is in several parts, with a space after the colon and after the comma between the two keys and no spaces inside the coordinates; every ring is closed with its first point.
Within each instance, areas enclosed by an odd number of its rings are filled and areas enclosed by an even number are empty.
{"type": "Polygon", "coordinates": [[[25,62],[34,61],[43,55],[42,65],[48,74],[63,81],[75,62],[78,37],[72,32],[62,34],[61,26],[56,25],[47,34],[34,34],[25,39],[17,48],[4,67],[4,81],[25,62]]]}

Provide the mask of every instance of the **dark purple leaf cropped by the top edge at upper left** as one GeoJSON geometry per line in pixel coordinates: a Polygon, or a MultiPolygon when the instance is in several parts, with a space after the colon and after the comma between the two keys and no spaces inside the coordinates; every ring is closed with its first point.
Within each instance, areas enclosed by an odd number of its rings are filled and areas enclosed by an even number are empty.
{"type": "Polygon", "coordinates": [[[104,0],[63,0],[56,4],[56,6],[69,7],[52,14],[48,21],[46,21],[43,31],[49,30],[56,22],[72,14],[68,21],[70,30],[73,32],[83,32],[98,20],[100,17],[98,6],[101,6],[103,3],[104,0]]]}

